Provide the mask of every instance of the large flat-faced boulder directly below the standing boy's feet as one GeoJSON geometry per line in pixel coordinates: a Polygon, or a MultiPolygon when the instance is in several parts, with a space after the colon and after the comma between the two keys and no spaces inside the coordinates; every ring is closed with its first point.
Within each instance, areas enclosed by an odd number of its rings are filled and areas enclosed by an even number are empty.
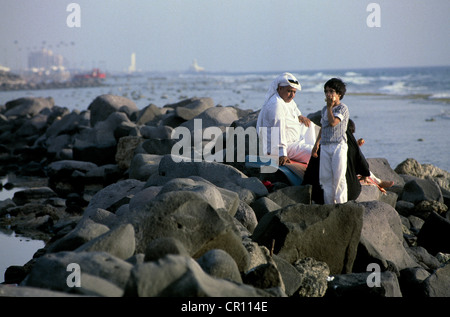
{"type": "Polygon", "coordinates": [[[252,239],[289,263],[312,257],[332,274],[352,271],[364,208],[341,205],[289,205],[263,216],[252,239]],[[273,246],[272,246],[273,243],[273,246]]]}

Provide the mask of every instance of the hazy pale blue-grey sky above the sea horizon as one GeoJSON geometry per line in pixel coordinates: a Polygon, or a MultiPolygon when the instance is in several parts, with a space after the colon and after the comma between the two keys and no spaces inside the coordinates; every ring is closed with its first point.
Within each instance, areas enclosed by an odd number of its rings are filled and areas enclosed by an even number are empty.
{"type": "Polygon", "coordinates": [[[132,53],[156,72],[450,65],[449,14],[448,0],[0,0],[0,65],[43,48],[110,72],[132,53]]]}

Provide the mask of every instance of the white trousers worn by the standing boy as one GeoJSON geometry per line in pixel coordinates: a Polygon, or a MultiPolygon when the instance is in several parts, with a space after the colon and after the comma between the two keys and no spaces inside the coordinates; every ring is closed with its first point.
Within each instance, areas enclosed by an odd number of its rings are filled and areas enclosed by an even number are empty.
{"type": "Polygon", "coordinates": [[[346,142],[320,146],[319,181],[325,204],[343,204],[348,200],[346,142]]]}

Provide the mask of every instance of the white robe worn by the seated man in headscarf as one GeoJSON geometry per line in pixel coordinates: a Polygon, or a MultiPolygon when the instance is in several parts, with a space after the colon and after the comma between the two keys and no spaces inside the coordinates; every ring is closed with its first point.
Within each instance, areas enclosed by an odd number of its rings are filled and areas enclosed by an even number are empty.
{"type": "MultiPolygon", "coordinates": [[[[301,115],[294,100],[286,103],[278,93],[274,94],[261,108],[256,123],[256,130],[260,134],[260,128],[267,128],[267,137],[263,135],[263,151],[271,155],[287,156],[287,147],[293,142],[302,139],[302,128],[298,121],[301,115]],[[279,133],[271,128],[278,128],[279,133]],[[272,132],[274,137],[272,139],[272,132]],[[274,144],[272,144],[272,141],[274,144]]],[[[260,135],[261,136],[261,135],[260,135]]]]}

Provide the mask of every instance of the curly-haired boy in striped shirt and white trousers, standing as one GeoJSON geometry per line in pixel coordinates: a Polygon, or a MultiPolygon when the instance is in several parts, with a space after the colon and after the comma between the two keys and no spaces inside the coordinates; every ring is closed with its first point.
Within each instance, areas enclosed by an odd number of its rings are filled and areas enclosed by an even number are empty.
{"type": "Polygon", "coordinates": [[[322,128],[314,144],[311,155],[317,157],[320,147],[319,181],[323,189],[325,204],[342,204],[347,202],[347,136],[349,120],[348,107],[341,103],[344,98],[345,83],[332,78],[324,85],[327,105],[322,109],[322,128]]]}

